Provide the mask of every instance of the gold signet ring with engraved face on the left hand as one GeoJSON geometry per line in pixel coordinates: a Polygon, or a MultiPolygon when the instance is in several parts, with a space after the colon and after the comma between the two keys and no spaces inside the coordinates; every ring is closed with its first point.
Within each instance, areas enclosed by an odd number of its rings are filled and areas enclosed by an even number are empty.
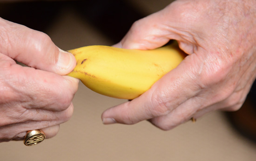
{"type": "Polygon", "coordinates": [[[30,130],[27,131],[23,143],[27,146],[36,145],[45,139],[45,134],[42,130],[30,130]]]}

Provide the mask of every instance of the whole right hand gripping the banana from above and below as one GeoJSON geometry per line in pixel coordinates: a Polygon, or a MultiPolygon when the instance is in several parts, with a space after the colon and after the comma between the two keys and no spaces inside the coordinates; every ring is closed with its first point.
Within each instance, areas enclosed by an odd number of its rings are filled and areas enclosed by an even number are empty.
{"type": "Polygon", "coordinates": [[[176,0],[140,19],[116,47],[178,41],[189,54],[150,90],[102,114],[105,124],[148,120],[169,130],[191,117],[239,109],[256,78],[255,0],[176,0]]]}

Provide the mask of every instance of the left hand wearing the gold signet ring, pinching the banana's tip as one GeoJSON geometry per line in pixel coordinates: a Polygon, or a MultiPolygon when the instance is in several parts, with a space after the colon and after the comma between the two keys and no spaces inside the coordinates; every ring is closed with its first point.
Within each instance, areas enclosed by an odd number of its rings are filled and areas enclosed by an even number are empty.
{"type": "Polygon", "coordinates": [[[61,75],[75,64],[46,34],[0,19],[0,142],[21,140],[33,129],[47,138],[57,134],[73,113],[78,88],[77,79],[61,75]]]}

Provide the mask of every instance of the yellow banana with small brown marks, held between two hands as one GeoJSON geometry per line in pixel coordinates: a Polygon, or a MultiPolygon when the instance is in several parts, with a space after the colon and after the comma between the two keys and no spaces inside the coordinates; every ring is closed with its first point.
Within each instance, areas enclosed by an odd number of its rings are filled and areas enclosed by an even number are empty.
{"type": "Polygon", "coordinates": [[[77,61],[68,76],[97,93],[121,99],[139,97],[185,58],[177,43],[154,50],[92,45],[68,52],[77,61]]]}

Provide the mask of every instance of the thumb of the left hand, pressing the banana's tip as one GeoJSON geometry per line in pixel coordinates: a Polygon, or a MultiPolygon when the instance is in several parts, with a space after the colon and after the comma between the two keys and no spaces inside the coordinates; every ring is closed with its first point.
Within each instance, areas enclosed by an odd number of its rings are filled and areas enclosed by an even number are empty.
{"type": "Polygon", "coordinates": [[[76,64],[74,56],[54,45],[47,34],[1,18],[0,42],[1,53],[36,69],[66,75],[76,64]]]}

